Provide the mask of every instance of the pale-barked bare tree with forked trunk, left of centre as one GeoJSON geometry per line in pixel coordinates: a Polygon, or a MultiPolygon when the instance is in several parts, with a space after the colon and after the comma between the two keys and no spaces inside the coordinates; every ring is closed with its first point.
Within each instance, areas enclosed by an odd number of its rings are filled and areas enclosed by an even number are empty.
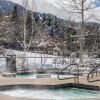
{"type": "MultiPolygon", "coordinates": [[[[24,50],[24,57],[25,58],[22,58],[22,69],[25,70],[26,68],[28,69],[28,59],[26,58],[26,52],[29,51],[29,49],[32,45],[33,33],[34,33],[33,23],[35,23],[35,21],[34,21],[33,12],[31,12],[31,21],[32,21],[31,22],[31,33],[30,33],[30,36],[27,37],[29,35],[27,32],[27,17],[28,17],[27,11],[29,10],[29,1],[28,0],[21,0],[21,3],[24,7],[24,11],[23,11],[23,33],[22,33],[22,35],[20,35],[22,42],[20,44],[24,50]]],[[[33,5],[31,8],[32,8],[32,10],[34,10],[33,5]]]]}

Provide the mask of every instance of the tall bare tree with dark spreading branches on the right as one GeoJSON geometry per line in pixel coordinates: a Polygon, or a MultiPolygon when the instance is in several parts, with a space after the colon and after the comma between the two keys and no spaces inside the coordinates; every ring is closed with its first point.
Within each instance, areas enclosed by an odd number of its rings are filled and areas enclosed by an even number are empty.
{"type": "Polygon", "coordinates": [[[79,44],[80,44],[80,63],[83,63],[82,56],[84,52],[84,23],[93,15],[89,14],[89,10],[95,8],[92,0],[58,0],[58,4],[67,12],[72,14],[72,19],[81,22],[79,44]],[[89,16],[87,16],[89,15],[89,16]]]}

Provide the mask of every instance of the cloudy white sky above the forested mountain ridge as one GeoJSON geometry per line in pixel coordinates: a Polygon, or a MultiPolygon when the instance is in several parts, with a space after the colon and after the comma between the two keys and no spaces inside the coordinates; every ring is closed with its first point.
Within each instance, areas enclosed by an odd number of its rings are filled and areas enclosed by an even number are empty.
{"type": "MultiPolygon", "coordinates": [[[[22,4],[23,0],[10,0],[10,1],[23,5],[22,4]]],[[[71,14],[70,16],[68,16],[68,14],[66,13],[66,10],[64,10],[58,3],[59,1],[61,0],[28,0],[29,2],[28,8],[32,10],[34,6],[34,10],[36,12],[50,13],[62,19],[68,19],[69,17],[71,17],[73,20],[76,20],[76,21],[79,21],[81,19],[81,17],[79,17],[79,15],[77,14],[75,15],[71,14]]],[[[71,0],[67,0],[66,2],[68,1],[70,2],[71,0]]],[[[92,2],[93,3],[92,6],[96,6],[96,8],[85,12],[85,17],[86,19],[88,19],[88,17],[93,16],[88,21],[99,23],[100,21],[98,20],[100,20],[99,19],[100,18],[100,14],[99,14],[100,13],[100,1],[99,0],[87,0],[85,5],[88,5],[90,2],[92,2]]],[[[70,11],[70,8],[68,9],[70,11]]]]}

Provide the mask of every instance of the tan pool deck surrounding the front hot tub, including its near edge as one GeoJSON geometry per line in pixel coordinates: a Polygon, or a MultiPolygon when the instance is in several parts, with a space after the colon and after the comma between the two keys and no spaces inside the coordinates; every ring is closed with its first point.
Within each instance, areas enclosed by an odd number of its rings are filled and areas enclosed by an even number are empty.
{"type": "MultiPolygon", "coordinates": [[[[38,78],[38,79],[25,79],[25,78],[23,78],[23,79],[21,79],[21,78],[5,78],[5,77],[0,75],[0,86],[17,85],[17,84],[61,85],[61,84],[68,84],[68,83],[74,83],[74,79],[68,79],[68,80],[58,80],[56,78],[38,78]]],[[[86,78],[80,78],[79,83],[75,83],[75,84],[83,84],[83,85],[100,87],[100,81],[89,83],[89,82],[87,82],[86,78]]],[[[40,100],[40,99],[18,98],[18,97],[11,97],[11,96],[0,94],[0,100],[40,100]]],[[[49,99],[46,99],[46,100],[49,100],[49,99]]],[[[79,100],[90,100],[90,99],[79,99],[79,100]]],[[[91,100],[100,100],[100,98],[98,98],[98,99],[94,98],[91,100]]]]}

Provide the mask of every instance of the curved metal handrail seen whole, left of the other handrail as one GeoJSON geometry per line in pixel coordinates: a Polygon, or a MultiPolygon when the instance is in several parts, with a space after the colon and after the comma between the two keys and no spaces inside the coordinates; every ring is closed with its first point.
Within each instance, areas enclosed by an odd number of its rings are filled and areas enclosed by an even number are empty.
{"type": "MultiPolygon", "coordinates": [[[[71,79],[72,77],[67,77],[67,78],[60,78],[60,74],[62,73],[63,74],[63,71],[66,70],[68,67],[72,66],[72,65],[75,65],[76,68],[77,68],[77,76],[76,77],[73,77],[73,78],[77,78],[77,82],[79,82],[79,66],[78,64],[74,63],[74,64],[70,64],[68,65],[67,67],[65,67],[64,69],[62,69],[60,72],[58,72],[58,79],[59,80],[66,80],[66,79],[71,79]]],[[[71,69],[70,69],[71,70],[71,69]]],[[[64,75],[64,74],[63,74],[64,75]]]]}

